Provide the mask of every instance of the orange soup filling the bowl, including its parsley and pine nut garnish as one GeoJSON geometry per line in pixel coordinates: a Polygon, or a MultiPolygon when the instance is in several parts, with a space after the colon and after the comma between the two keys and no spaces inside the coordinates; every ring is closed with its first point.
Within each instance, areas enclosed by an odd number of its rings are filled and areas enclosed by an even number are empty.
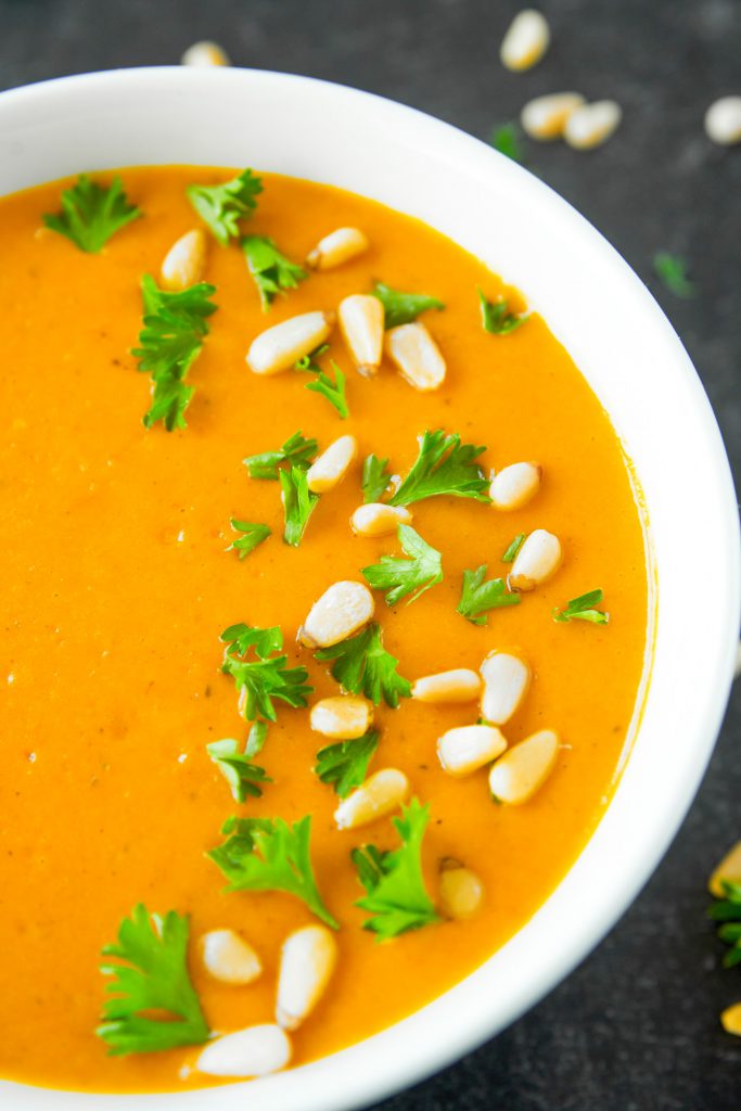
{"type": "Polygon", "coordinates": [[[609,803],[648,578],[608,416],[475,258],[327,186],[120,178],[0,201],[0,1073],[130,1092],[504,944],[609,803]]]}

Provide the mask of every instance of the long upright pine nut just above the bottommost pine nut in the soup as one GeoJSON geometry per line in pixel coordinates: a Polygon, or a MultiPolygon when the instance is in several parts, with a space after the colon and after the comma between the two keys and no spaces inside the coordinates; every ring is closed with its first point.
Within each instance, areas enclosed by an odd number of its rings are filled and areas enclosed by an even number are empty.
{"type": "Polygon", "coordinates": [[[283,942],[278,973],[276,1021],[296,1030],[324,994],[334,965],[337,941],[326,925],[306,925],[283,942]]]}

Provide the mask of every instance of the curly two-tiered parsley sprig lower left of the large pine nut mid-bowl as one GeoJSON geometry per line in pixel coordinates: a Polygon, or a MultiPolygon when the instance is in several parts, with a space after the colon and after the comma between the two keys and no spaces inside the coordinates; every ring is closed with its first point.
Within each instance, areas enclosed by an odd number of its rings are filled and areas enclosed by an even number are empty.
{"type": "Polygon", "coordinates": [[[278,628],[257,629],[248,624],[234,624],[221,633],[227,645],[221,670],[231,675],[239,693],[240,712],[247,721],[262,718],[276,721],[273,699],[292,707],[306,707],[307,695],[313,688],[307,685],[309,672],[306,668],[287,668],[288,657],[282,652],[283,637],[278,628]],[[257,660],[248,659],[254,649],[257,660]]]}

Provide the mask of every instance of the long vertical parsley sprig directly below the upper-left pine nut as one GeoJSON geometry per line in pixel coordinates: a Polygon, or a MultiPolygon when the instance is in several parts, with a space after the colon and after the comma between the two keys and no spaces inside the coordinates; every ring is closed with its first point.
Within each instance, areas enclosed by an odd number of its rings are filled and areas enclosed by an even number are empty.
{"type": "Polygon", "coordinates": [[[144,427],[161,420],[171,432],[186,428],[183,414],[193,387],[186,386],[184,378],[208,334],[207,318],[217,310],[209,300],[216,287],[199,282],[179,293],[167,293],[158,289],[150,274],[144,274],[141,293],[144,327],[139,333],[141,347],[131,353],[139,360],[139,370],[152,378],[152,403],[144,414],[144,427]]]}

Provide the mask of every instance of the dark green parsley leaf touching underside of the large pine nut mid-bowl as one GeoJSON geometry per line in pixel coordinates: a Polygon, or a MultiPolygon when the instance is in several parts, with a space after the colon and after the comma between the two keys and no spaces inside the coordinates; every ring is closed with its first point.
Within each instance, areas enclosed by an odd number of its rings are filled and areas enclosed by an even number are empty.
{"type": "Polygon", "coordinates": [[[398,674],[399,660],[383,648],[381,627],[375,621],[349,640],[314,652],[314,659],[334,660],[332,678],[350,694],[362,691],[375,705],[383,698],[395,710],[399,698],[411,694],[412,684],[398,674]]]}

